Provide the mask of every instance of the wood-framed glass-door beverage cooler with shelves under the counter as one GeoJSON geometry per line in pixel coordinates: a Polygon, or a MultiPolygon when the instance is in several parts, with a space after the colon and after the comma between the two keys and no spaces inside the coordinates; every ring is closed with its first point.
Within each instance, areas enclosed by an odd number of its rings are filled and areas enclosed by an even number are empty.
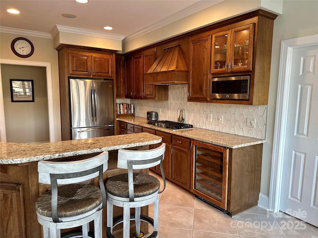
{"type": "Polygon", "coordinates": [[[193,193],[227,210],[229,149],[194,141],[193,193]]]}

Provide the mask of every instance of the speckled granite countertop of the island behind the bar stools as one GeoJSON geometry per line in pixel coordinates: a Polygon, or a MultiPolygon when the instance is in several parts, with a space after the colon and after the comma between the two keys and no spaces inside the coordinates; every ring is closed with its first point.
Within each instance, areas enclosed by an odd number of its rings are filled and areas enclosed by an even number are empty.
{"type": "Polygon", "coordinates": [[[41,144],[0,142],[0,164],[36,162],[160,142],[161,137],[149,133],[114,135],[41,144]]]}

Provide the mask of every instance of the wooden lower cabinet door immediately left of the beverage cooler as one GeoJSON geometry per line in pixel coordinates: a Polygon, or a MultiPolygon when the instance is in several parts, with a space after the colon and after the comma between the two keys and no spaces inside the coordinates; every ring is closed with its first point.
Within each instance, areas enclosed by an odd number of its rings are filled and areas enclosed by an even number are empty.
{"type": "Polygon", "coordinates": [[[191,153],[177,145],[172,145],[172,172],[171,179],[176,184],[190,189],[191,153]]]}

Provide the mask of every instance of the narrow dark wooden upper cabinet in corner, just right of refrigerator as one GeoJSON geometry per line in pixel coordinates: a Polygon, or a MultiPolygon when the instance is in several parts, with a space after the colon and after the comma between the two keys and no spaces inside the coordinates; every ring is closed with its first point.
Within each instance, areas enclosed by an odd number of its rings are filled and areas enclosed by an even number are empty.
{"type": "Polygon", "coordinates": [[[125,98],[125,58],[123,55],[116,54],[116,98],[125,98]]]}

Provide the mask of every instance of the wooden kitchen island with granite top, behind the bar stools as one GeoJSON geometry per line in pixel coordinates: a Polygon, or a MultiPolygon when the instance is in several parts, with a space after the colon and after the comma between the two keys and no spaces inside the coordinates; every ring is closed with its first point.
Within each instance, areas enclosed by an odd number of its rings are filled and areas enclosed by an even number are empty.
{"type": "MultiPolygon", "coordinates": [[[[37,222],[35,201],[45,192],[47,185],[38,183],[37,162],[41,160],[78,160],[110,151],[108,177],[124,173],[117,168],[118,149],[147,146],[161,142],[149,133],[97,137],[42,144],[0,142],[0,237],[40,238],[41,226],[37,222]]],[[[143,171],[147,173],[148,171],[143,171]]],[[[98,184],[98,179],[92,184],[98,184]]],[[[105,210],[105,209],[104,209],[105,210]]],[[[147,210],[142,211],[147,213],[147,210]]],[[[106,229],[106,212],[103,212],[106,229]]],[[[103,236],[106,237],[105,230],[103,236]]]]}

